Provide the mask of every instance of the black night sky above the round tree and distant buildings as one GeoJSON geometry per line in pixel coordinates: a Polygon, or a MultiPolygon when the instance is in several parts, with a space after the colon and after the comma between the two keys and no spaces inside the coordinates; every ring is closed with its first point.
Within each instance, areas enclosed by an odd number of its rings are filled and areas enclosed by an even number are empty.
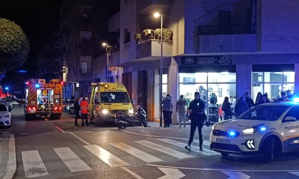
{"type": "MultiPolygon", "coordinates": [[[[30,42],[30,52],[23,67],[27,77],[37,78],[36,64],[38,53],[42,50],[42,42],[59,32],[59,12],[62,0],[2,0],[0,17],[14,21],[19,25],[30,42]]],[[[108,19],[120,10],[120,0],[102,1],[101,40],[114,41],[117,33],[108,32],[108,19]]],[[[105,53],[105,49],[103,49],[105,53]]],[[[7,74],[7,77],[9,77],[7,74]]],[[[9,81],[3,79],[2,82],[9,81]]]]}

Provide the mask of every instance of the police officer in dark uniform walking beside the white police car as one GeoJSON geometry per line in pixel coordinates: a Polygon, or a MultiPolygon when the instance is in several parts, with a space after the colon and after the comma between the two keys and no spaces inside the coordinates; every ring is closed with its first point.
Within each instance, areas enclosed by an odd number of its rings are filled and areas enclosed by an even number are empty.
{"type": "Polygon", "coordinates": [[[190,102],[190,105],[188,107],[189,110],[189,118],[191,119],[191,128],[190,128],[190,139],[188,142],[188,146],[185,146],[185,149],[191,150],[191,144],[193,142],[194,132],[196,130],[196,127],[198,128],[199,133],[199,147],[200,150],[203,150],[203,122],[206,118],[205,114],[206,104],[203,100],[200,99],[199,92],[194,93],[194,100],[190,102]]]}

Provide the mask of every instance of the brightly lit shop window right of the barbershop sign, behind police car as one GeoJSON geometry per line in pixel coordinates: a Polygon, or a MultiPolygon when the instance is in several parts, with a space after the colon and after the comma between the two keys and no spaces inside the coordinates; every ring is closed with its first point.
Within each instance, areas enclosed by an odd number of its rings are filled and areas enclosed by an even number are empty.
{"type": "Polygon", "coordinates": [[[267,93],[270,99],[280,97],[281,91],[295,89],[295,72],[253,72],[252,99],[256,100],[257,93],[267,93]]]}

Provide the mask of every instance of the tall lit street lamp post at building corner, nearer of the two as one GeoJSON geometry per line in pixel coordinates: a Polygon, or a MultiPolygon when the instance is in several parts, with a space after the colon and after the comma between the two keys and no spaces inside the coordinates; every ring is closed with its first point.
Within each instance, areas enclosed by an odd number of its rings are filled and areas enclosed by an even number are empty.
{"type": "MultiPolygon", "coordinates": [[[[160,60],[160,94],[159,94],[159,103],[160,103],[160,127],[162,127],[162,75],[163,75],[163,15],[159,13],[154,14],[155,17],[161,17],[161,60],[160,60]]],[[[165,122],[165,121],[164,121],[165,122]]],[[[167,124],[164,124],[167,125],[167,124]]]]}

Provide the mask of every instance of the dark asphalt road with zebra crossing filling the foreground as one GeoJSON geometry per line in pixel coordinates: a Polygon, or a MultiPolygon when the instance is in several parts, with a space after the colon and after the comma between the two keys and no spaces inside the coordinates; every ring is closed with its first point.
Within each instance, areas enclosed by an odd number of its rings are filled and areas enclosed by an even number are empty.
{"type": "Polygon", "coordinates": [[[198,134],[192,151],[184,149],[190,126],[74,127],[68,113],[60,120],[29,121],[20,113],[22,108],[14,106],[11,128],[0,128],[15,137],[13,178],[299,178],[299,153],[276,156],[271,163],[260,156],[222,158],[209,150],[211,127],[204,127],[199,152],[198,134]]]}

